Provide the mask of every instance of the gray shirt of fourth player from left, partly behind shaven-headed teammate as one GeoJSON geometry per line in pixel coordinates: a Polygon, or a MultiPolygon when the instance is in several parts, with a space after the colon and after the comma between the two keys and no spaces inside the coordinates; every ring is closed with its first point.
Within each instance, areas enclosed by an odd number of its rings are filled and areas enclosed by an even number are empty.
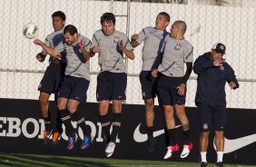
{"type": "Polygon", "coordinates": [[[157,30],[153,26],[147,26],[139,33],[137,42],[143,44],[143,71],[151,71],[156,56],[162,48],[164,37],[167,31],[157,30]]]}

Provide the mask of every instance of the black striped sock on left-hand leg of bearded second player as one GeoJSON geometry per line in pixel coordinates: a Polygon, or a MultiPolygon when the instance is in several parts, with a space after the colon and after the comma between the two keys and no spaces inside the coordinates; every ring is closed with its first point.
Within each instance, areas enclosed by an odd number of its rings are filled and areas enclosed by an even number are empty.
{"type": "Polygon", "coordinates": [[[65,126],[65,133],[67,136],[74,137],[74,127],[71,124],[71,118],[67,110],[59,110],[59,115],[65,126]]]}

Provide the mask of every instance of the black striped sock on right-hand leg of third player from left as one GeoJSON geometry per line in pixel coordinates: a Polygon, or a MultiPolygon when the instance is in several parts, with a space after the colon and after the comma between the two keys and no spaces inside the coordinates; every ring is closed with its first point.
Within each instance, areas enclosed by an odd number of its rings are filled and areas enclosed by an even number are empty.
{"type": "Polygon", "coordinates": [[[112,133],[111,142],[115,142],[116,137],[120,131],[121,127],[121,115],[122,113],[113,113],[113,123],[112,123],[112,133]]]}

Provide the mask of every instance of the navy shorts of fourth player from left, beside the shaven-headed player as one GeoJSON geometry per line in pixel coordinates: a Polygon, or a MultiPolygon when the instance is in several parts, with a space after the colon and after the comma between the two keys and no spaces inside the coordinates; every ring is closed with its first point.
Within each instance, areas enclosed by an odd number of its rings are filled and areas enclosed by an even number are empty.
{"type": "Polygon", "coordinates": [[[142,84],[143,100],[154,98],[156,96],[156,78],[151,75],[151,71],[142,71],[140,81],[142,84]]]}

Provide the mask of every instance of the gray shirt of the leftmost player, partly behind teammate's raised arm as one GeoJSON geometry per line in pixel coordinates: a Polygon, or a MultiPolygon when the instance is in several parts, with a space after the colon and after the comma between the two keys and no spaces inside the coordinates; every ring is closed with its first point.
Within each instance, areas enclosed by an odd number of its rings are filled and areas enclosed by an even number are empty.
{"type": "MultiPolygon", "coordinates": [[[[52,34],[48,34],[44,40],[44,44],[46,44],[48,47],[55,48],[58,44],[64,43],[64,28],[55,31],[52,34]]],[[[54,60],[55,58],[53,56],[49,57],[49,61],[54,60]]]]}

